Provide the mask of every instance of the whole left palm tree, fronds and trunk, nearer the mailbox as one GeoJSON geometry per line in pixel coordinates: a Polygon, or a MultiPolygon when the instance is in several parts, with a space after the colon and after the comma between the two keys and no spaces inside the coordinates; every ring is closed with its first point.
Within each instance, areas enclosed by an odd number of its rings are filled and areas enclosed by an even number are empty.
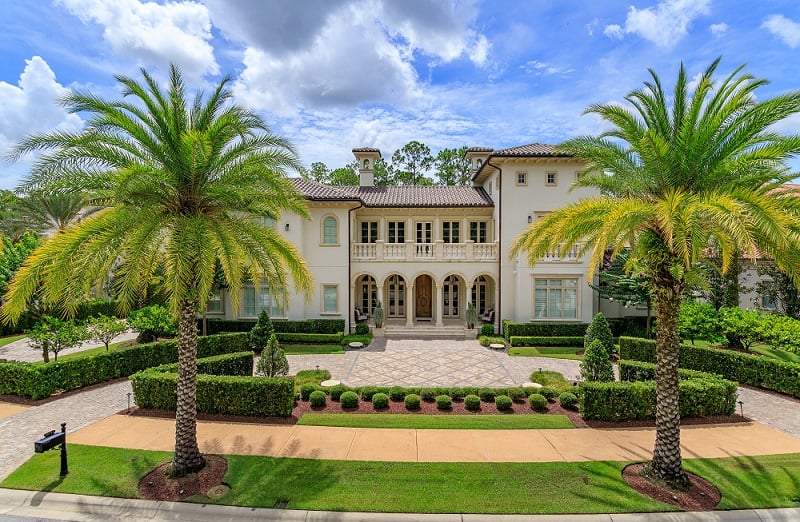
{"type": "Polygon", "coordinates": [[[112,269],[115,293],[130,309],[162,263],[169,304],[179,321],[175,455],[168,473],[203,467],[197,445],[197,314],[205,308],[218,261],[234,306],[246,280],[285,288],[291,274],[299,291],[311,278],[297,249],[255,216],[282,211],[308,216],[304,199],[286,178],[299,169],[292,146],[264,121],[230,103],[223,79],[188,103],[180,71],[172,66],[166,89],[147,71],[143,83],[116,76],[125,98],[90,93],[62,100],[91,115],[77,133],[24,139],[14,155],[43,150],[23,185],[86,194],[101,210],[56,234],[20,269],[2,318],[13,321],[33,293],[67,313],[112,269]]]}

